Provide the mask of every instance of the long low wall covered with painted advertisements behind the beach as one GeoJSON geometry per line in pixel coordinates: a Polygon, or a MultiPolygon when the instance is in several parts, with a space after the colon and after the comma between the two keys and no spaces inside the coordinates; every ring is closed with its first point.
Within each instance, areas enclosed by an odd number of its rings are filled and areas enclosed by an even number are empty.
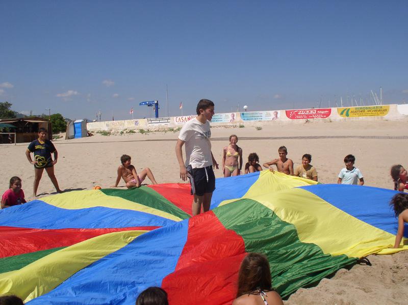
{"type": "MultiPolygon", "coordinates": [[[[165,129],[182,127],[195,115],[168,118],[135,119],[123,121],[92,122],[87,124],[89,131],[124,129],[165,129]]],[[[310,108],[290,110],[268,110],[260,112],[235,112],[215,114],[212,126],[257,126],[263,123],[309,121],[361,121],[361,120],[403,120],[408,118],[408,105],[380,105],[342,108],[310,108]]]]}

